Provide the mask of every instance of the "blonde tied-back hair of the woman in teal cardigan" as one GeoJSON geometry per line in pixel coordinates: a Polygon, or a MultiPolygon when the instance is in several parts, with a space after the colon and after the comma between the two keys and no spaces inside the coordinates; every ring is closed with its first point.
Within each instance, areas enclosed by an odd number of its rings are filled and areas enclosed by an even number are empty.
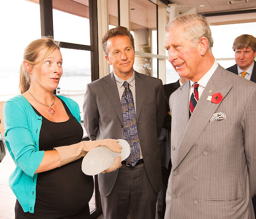
{"type": "MultiPolygon", "coordinates": [[[[43,63],[43,60],[52,53],[54,49],[60,49],[59,42],[54,41],[52,37],[43,37],[38,40],[34,40],[24,49],[23,61],[27,61],[32,65],[32,68],[35,64],[40,63],[40,69],[43,63]],[[35,61],[38,58],[38,53],[42,49],[46,49],[47,51],[41,57],[40,61],[35,61]]],[[[30,77],[29,72],[26,71],[23,67],[23,63],[20,65],[20,93],[23,94],[30,87],[30,77]]]]}

